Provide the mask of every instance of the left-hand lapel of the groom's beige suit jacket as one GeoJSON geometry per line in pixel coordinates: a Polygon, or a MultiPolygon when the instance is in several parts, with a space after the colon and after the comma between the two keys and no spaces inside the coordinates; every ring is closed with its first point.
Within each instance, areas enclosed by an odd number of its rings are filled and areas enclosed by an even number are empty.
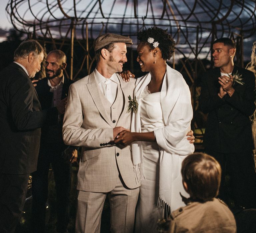
{"type": "Polygon", "coordinates": [[[95,82],[95,76],[94,73],[89,75],[88,78],[88,84],[86,84],[88,91],[93,99],[93,102],[98,109],[99,113],[101,116],[106,120],[106,122],[111,125],[111,119],[109,114],[107,114],[107,111],[104,107],[103,104],[103,98],[102,98],[102,93],[100,93],[98,84],[95,82]]]}

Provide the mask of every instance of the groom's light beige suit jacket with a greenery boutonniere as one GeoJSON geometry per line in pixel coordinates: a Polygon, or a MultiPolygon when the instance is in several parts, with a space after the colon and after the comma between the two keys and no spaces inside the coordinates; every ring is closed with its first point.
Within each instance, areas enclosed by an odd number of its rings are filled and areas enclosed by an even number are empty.
{"type": "Polygon", "coordinates": [[[111,145],[113,128],[130,129],[131,113],[127,112],[128,96],[133,96],[135,79],[120,85],[113,105],[100,91],[94,72],[73,83],[69,89],[63,122],[63,139],[68,145],[82,147],[77,189],[109,192],[120,175],[128,188],[137,188],[130,146],[111,145]]]}

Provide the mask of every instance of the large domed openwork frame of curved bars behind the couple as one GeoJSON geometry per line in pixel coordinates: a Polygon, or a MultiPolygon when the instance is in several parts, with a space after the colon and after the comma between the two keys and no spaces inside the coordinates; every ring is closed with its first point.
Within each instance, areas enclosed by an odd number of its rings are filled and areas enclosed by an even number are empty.
{"type": "MultiPolygon", "coordinates": [[[[71,79],[91,72],[92,42],[99,35],[129,36],[135,49],[138,31],[151,26],[167,29],[176,41],[175,56],[169,62],[190,86],[192,128],[199,129],[203,126],[196,115],[198,74],[212,66],[212,42],[220,37],[234,39],[236,63],[243,67],[244,42],[256,34],[255,0],[9,0],[6,12],[13,27],[28,38],[51,44],[52,49],[66,48],[71,79]]],[[[132,72],[136,71],[135,54],[131,51],[128,57],[132,72]]]]}

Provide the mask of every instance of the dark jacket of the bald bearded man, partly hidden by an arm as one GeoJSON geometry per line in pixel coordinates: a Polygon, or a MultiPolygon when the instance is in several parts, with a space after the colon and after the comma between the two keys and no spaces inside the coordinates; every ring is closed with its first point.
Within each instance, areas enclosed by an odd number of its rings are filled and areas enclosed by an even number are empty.
{"type": "MultiPolygon", "coordinates": [[[[69,86],[73,83],[72,80],[67,79],[64,76],[64,83],[62,87],[62,95],[61,99],[64,99],[68,96],[69,86]]],[[[37,82],[37,86],[35,87],[39,102],[42,106],[42,110],[51,108],[53,93],[50,92],[50,87],[48,86],[48,79],[44,78],[37,82]]],[[[51,145],[58,147],[60,150],[64,150],[67,146],[64,144],[62,139],[62,123],[63,123],[63,115],[59,117],[59,122],[57,125],[45,125],[42,127],[41,134],[41,149],[49,148],[51,145]]]]}

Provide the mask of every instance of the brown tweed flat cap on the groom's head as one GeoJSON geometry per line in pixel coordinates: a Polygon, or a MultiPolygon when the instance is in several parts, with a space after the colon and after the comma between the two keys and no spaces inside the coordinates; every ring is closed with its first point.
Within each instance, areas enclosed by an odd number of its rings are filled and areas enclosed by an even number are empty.
{"type": "Polygon", "coordinates": [[[103,34],[95,39],[93,42],[94,51],[97,51],[110,43],[125,43],[132,45],[132,39],[126,36],[120,36],[116,34],[103,34]]]}

